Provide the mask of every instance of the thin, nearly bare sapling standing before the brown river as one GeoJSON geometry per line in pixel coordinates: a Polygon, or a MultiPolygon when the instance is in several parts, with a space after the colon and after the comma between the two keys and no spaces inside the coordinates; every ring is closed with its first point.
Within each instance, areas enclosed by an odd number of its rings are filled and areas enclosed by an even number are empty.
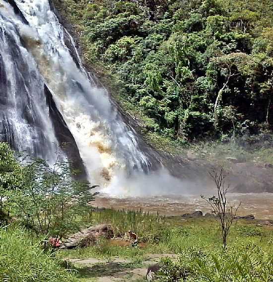
{"type": "Polygon", "coordinates": [[[230,227],[234,221],[234,218],[236,217],[236,213],[241,203],[237,207],[228,205],[226,193],[229,189],[229,185],[225,184],[226,175],[223,174],[223,168],[221,168],[219,172],[212,170],[209,172],[209,175],[215,183],[217,196],[212,196],[208,199],[205,199],[204,196],[201,196],[201,198],[206,200],[206,202],[212,208],[212,213],[216,214],[220,219],[223,245],[225,248],[227,245],[227,236],[229,234],[230,227]]]}

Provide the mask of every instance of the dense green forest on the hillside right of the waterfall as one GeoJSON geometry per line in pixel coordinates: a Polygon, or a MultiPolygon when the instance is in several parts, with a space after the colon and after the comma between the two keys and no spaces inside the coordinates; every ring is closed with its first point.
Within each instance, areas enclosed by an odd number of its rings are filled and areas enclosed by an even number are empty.
{"type": "Polygon", "coordinates": [[[57,1],[85,60],[109,71],[144,131],[178,143],[268,133],[271,0],[57,1]]]}

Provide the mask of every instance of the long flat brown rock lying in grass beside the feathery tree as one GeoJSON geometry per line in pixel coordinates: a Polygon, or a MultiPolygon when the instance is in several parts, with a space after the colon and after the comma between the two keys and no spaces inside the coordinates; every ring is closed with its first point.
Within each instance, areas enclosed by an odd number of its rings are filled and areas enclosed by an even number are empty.
{"type": "Polygon", "coordinates": [[[99,238],[112,238],[113,228],[109,224],[100,224],[83,229],[65,240],[60,249],[72,249],[76,247],[87,247],[93,245],[99,238]]]}

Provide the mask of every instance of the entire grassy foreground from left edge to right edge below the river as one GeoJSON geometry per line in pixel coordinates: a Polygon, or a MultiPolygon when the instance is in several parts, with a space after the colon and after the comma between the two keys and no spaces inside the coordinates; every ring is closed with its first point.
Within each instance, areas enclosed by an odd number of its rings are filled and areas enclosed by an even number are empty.
{"type": "MultiPolygon", "coordinates": [[[[219,223],[213,218],[162,217],[142,211],[92,212],[89,224],[101,222],[113,225],[114,240],[101,239],[91,247],[53,254],[42,251],[42,238],[18,226],[1,229],[0,281],[103,281],[98,279],[145,270],[148,256],[163,258],[169,254],[177,254],[178,259],[163,259],[164,268],[157,281],[273,281],[273,228],[257,226],[255,221],[236,221],[226,250],[222,248],[219,223]],[[139,234],[138,247],[125,243],[129,229],[139,234]],[[80,265],[75,259],[87,263],[80,265]],[[93,263],[88,266],[90,259],[93,263]],[[175,278],[174,273],[180,277],[175,278]]],[[[131,276],[122,279],[117,281],[144,281],[131,276]]]]}

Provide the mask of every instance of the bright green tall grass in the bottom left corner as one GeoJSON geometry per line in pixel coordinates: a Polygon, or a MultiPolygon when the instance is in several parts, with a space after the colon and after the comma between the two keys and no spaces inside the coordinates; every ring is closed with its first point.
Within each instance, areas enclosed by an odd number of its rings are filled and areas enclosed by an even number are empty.
{"type": "Polygon", "coordinates": [[[0,229],[1,282],[74,282],[39,241],[21,229],[0,229]]]}

